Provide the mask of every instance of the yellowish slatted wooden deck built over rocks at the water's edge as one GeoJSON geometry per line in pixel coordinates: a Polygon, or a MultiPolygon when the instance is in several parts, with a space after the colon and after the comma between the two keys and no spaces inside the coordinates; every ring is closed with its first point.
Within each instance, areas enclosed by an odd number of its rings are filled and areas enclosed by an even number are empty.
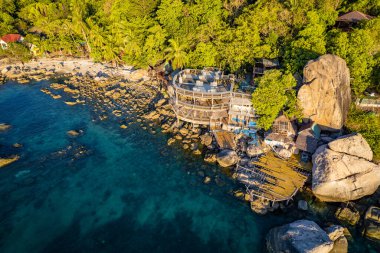
{"type": "Polygon", "coordinates": [[[237,166],[238,180],[246,185],[251,196],[271,201],[291,199],[310,174],[296,159],[283,160],[269,153],[251,166],[237,166]]]}

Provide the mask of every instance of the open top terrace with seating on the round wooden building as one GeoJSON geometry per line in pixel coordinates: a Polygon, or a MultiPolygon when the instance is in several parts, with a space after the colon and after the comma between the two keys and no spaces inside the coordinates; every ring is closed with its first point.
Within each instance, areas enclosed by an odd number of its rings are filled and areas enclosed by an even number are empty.
{"type": "Polygon", "coordinates": [[[173,84],[179,88],[203,93],[230,92],[235,82],[234,75],[224,75],[217,69],[185,69],[173,77],[173,84]]]}

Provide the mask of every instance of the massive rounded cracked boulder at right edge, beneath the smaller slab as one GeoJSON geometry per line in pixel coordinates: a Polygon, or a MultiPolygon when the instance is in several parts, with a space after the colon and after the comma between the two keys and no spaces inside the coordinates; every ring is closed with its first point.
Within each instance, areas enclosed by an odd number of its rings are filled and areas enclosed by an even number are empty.
{"type": "MultiPolygon", "coordinates": [[[[338,142],[346,141],[343,137],[338,142]]],[[[362,154],[361,145],[341,147],[332,143],[331,146],[344,152],[334,151],[328,144],[319,147],[314,153],[312,169],[314,195],[322,201],[346,202],[373,194],[380,185],[380,166],[362,158],[370,156],[362,154]]]]}

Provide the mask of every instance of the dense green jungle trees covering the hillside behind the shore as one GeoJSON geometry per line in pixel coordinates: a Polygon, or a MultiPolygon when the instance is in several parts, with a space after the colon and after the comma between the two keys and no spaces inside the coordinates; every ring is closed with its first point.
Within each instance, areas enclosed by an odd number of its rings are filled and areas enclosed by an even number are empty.
{"type": "Polygon", "coordinates": [[[378,0],[0,0],[0,35],[21,33],[41,54],[142,68],[170,61],[236,72],[278,58],[281,70],[254,94],[267,129],[283,109],[299,116],[294,76],[319,55],[346,60],[355,97],[380,91],[379,14],[378,0]],[[338,28],[338,16],[354,10],[374,18],[338,28]]]}

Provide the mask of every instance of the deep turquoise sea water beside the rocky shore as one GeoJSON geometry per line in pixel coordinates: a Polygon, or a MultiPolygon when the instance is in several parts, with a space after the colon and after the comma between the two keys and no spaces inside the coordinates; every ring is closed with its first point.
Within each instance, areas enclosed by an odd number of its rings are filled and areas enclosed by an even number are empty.
{"type": "Polygon", "coordinates": [[[93,121],[46,84],[0,86],[0,152],[21,155],[0,169],[0,252],[265,252],[271,227],[302,218],[252,213],[217,167],[138,124],[93,121]]]}

